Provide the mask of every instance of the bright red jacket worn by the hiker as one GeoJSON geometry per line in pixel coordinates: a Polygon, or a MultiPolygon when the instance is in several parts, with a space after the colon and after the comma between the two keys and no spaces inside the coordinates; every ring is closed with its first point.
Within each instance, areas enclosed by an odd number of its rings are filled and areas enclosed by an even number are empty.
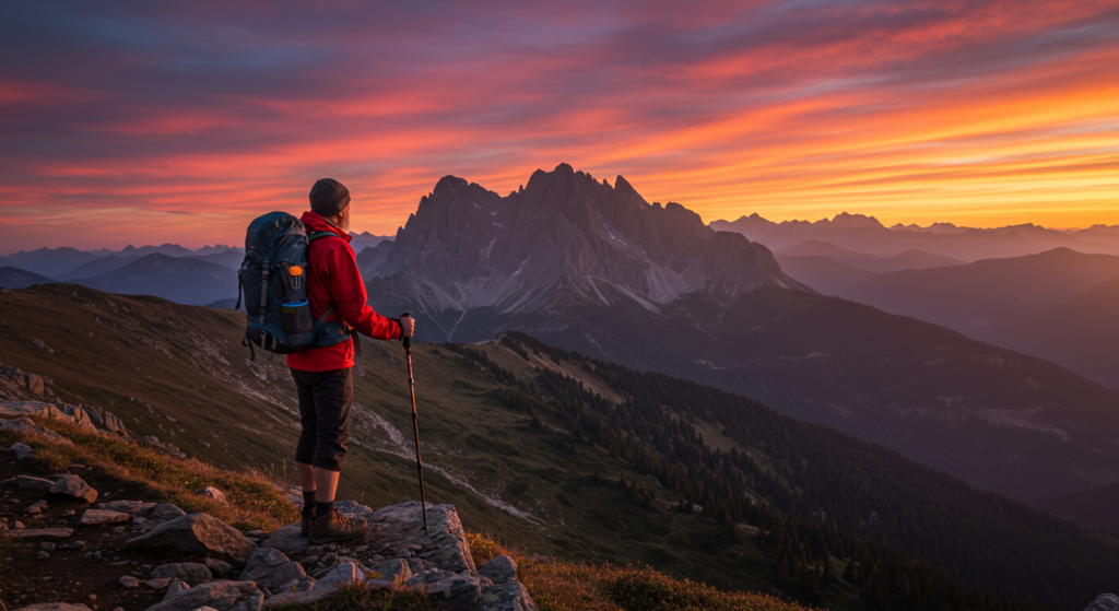
{"type": "MultiPolygon", "coordinates": [[[[396,339],[401,337],[401,326],[391,318],[373,311],[366,301],[365,282],[357,269],[350,236],[331,225],[326,218],[312,213],[303,213],[301,219],[307,233],[333,232],[339,238],[320,237],[308,247],[307,258],[311,267],[307,298],[311,302],[311,316],[318,320],[332,303],[335,311],[327,320],[344,320],[359,333],[374,339],[396,339]]],[[[288,366],[303,372],[330,372],[354,366],[354,341],[326,348],[310,348],[288,355],[288,366]]]]}

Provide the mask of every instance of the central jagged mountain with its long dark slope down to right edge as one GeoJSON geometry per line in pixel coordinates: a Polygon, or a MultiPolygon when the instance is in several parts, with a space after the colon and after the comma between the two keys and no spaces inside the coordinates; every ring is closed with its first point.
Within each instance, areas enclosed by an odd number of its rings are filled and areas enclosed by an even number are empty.
{"type": "Polygon", "coordinates": [[[370,303],[415,312],[423,339],[526,331],[744,394],[1018,499],[1119,480],[1119,394],[824,297],[765,246],[650,205],[621,177],[610,186],[561,164],[505,197],[443,178],[361,266],[370,303]]]}

